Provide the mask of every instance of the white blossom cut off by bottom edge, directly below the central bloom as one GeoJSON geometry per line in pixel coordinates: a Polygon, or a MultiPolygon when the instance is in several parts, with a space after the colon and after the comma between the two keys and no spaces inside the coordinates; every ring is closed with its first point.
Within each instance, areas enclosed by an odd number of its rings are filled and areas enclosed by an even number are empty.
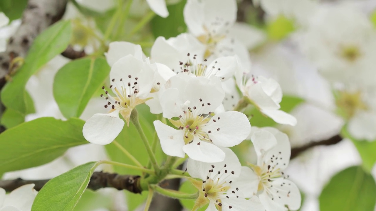
{"type": "Polygon", "coordinates": [[[187,171],[193,178],[191,180],[199,190],[196,208],[209,203],[206,211],[265,211],[256,196],[245,199],[244,185],[249,180],[247,167],[241,167],[238,157],[230,149],[224,148],[226,153],[224,161],[219,163],[203,163],[188,158],[187,171]],[[246,169],[246,172],[243,172],[246,169]]]}

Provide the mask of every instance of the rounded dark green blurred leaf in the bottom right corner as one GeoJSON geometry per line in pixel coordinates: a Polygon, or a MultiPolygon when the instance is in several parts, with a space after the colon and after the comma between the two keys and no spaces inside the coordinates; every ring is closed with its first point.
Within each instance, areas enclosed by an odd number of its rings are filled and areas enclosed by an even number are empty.
{"type": "Polygon", "coordinates": [[[360,166],[345,169],[332,177],[319,197],[320,211],[373,211],[376,184],[360,166]]]}

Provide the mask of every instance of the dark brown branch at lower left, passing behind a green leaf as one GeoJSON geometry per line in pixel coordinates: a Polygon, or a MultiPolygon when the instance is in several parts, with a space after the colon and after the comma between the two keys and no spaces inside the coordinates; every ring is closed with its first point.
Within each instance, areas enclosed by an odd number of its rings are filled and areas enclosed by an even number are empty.
{"type": "MultiPolygon", "coordinates": [[[[98,190],[100,188],[116,188],[117,190],[127,190],[132,193],[141,193],[139,188],[140,176],[133,175],[118,175],[117,173],[94,172],[90,178],[88,189],[98,190]]],[[[49,181],[49,179],[42,180],[25,180],[12,179],[0,180],[0,188],[7,192],[11,192],[18,187],[26,184],[35,184],[34,189],[39,191],[49,181]]]]}

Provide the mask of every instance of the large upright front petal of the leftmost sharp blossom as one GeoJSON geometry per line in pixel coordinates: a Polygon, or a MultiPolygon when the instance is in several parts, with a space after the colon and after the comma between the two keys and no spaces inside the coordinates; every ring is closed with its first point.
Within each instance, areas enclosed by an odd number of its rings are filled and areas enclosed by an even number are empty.
{"type": "Polygon", "coordinates": [[[150,65],[132,55],[121,57],[114,63],[110,71],[110,80],[115,79],[111,81],[111,84],[114,85],[112,89],[114,90],[117,87],[121,90],[121,87],[124,87],[127,93],[133,93],[132,86],[137,81],[137,97],[146,98],[152,89],[155,74],[156,65],[150,65]],[[128,86],[127,83],[130,83],[131,86],[128,86]]]}

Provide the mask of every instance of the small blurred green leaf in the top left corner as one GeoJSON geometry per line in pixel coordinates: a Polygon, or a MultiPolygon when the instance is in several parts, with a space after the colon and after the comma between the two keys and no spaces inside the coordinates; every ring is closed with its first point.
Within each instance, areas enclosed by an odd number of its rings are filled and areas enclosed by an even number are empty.
{"type": "Polygon", "coordinates": [[[21,18],[26,5],[27,0],[1,0],[0,12],[4,12],[9,21],[16,20],[21,18]]]}

